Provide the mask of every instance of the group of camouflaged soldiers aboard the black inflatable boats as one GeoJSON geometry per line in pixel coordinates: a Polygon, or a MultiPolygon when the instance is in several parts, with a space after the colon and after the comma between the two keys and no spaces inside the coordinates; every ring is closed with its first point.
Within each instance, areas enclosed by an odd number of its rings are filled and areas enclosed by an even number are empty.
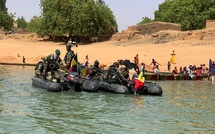
{"type": "MultiPolygon", "coordinates": [[[[39,61],[35,67],[35,76],[41,77],[52,82],[60,83],[65,81],[63,73],[59,71],[60,68],[61,69],[63,68],[62,70],[67,70],[67,72],[76,71],[77,73],[79,73],[79,75],[81,75],[81,68],[79,69],[79,67],[83,67],[89,70],[89,74],[87,76],[89,79],[103,80],[110,84],[121,84],[125,86],[130,85],[133,86],[135,84],[133,79],[129,77],[129,70],[127,66],[124,65],[121,60],[114,62],[112,65],[108,67],[107,70],[102,70],[100,68],[100,63],[98,60],[95,60],[93,65],[89,66],[89,58],[88,55],[86,55],[84,64],[77,63],[78,65],[72,66],[72,62],[76,55],[71,48],[72,48],[71,43],[67,43],[66,44],[67,52],[64,56],[64,59],[60,58],[61,51],[59,49],[56,49],[53,54],[41,58],[41,61],[39,61]]],[[[139,58],[137,54],[135,57],[135,65],[138,64],[139,58]]],[[[145,70],[143,63],[142,70],[145,70]]],[[[141,78],[143,78],[143,74],[141,78]]],[[[143,87],[143,84],[142,86],[139,85],[141,84],[138,84],[138,86],[134,87],[136,87],[137,89],[143,87]]]]}

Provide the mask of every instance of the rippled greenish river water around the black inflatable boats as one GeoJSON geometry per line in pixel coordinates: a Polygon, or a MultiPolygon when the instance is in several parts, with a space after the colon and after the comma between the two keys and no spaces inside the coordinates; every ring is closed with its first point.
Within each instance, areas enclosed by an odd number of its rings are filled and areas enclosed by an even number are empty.
{"type": "Polygon", "coordinates": [[[215,84],[157,81],[162,96],[49,92],[34,67],[0,65],[0,133],[215,133],[215,84]]]}

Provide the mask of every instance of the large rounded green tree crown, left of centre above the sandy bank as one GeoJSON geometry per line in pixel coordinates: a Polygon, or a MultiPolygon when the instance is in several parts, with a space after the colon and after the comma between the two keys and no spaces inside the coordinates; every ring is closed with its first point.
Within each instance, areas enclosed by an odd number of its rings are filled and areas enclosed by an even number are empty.
{"type": "Polygon", "coordinates": [[[41,0],[44,34],[89,37],[116,27],[115,17],[104,1],[41,0]]]}

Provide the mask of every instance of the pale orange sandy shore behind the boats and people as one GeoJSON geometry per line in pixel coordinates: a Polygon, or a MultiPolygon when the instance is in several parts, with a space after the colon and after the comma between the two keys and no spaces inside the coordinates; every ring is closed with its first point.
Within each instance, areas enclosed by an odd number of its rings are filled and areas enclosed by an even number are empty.
{"type": "MultiPolygon", "coordinates": [[[[160,70],[167,71],[167,62],[173,50],[176,53],[176,64],[172,64],[171,69],[175,66],[179,68],[190,64],[200,66],[205,63],[208,66],[209,59],[215,60],[215,43],[204,42],[189,40],[145,44],[141,41],[135,41],[135,43],[134,41],[107,41],[79,45],[72,49],[75,53],[77,52],[80,63],[83,63],[85,56],[88,55],[90,64],[93,64],[94,60],[99,60],[100,63],[109,66],[118,59],[133,60],[138,54],[140,63],[144,62],[147,70],[150,70],[148,65],[154,58],[161,64],[160,70]]],[[[24,56],[26,63],[37,63],[41,57],[54,53],[56,49],[60,49],[62,59],[66,53],[65,44],[39,40],[2,39],[0,46],[0,62],[22,63],[22,56],[24,56]]]]}

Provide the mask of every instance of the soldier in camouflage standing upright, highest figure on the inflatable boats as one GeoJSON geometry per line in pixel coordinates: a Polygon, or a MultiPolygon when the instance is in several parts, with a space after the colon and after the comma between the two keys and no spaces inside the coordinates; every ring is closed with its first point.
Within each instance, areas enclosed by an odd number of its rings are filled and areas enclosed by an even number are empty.
{"type": "Polygon", "coordinates": [[[69,68],[70,68],[70,66],[71,66],[72,59],[73,59],[74,56],[75,56],[75,53],[74,53],[74,51],[72,51],[71,47],[72,47],[72,46],[71,46],[71,44],[69,44],[69,43],[66,45],[67,53],[66,53],[66,55],[65,55],[65,57],[64,57],[64,62],[63,62],[63,64],[64,64],[64,66],[66,67],[67,70],[69,70],[69,68]]]}

